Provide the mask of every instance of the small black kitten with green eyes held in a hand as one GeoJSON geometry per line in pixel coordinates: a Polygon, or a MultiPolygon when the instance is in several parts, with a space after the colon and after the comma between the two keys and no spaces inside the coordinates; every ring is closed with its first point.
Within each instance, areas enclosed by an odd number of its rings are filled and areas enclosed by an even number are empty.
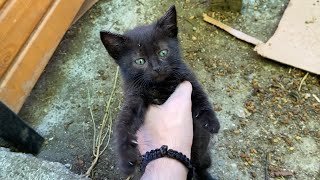
{"type": "MultiPolygon", "coordinates": [[[[182,61],[178,41],[175,6],[157,22],[136,27],[124,35],[100,32],[110,56],[120,66],[125,101],[115,130],[120,169],[134,173],[139,162],[136,132],[143,124],[151,104],[162,104],[178,84],[190,81],[194,138],[191,160],[199,179],[212,179],[208,153],[210,133],[218,133],[220,124],[194,74],[182,61]]],[[[159,147],[160,148],[160,147],[159,147]]]]}

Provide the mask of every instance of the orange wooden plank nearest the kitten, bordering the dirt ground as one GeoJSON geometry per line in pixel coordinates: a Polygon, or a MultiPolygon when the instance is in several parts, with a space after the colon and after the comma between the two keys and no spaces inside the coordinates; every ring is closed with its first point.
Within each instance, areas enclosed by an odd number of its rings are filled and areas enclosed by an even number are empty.
{"type": "Polygon", "coordinates": [[[84,0],[55,0],[0,81],[0,99],[18,112],[84,0]]]}

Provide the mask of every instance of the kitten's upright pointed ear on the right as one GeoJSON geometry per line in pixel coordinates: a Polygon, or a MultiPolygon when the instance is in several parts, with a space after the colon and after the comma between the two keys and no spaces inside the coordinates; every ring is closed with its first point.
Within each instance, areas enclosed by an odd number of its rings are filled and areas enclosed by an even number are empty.
{"type": "Polygon", "coordinates": [[[175,5],[171,6],[167,13],[157,22],[157,28],[165,31],[169,37],[177,37],[177,11],[175,5]]]}

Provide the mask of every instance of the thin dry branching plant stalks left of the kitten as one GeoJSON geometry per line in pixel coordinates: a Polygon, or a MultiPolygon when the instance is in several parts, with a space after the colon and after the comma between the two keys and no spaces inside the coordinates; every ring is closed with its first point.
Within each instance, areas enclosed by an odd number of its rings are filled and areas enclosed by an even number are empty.
{"type": "MultiPolygon", "coordinates": [[[[112,133],[112,120],[110,119],[110,104],[112,101],[112,98],[114,96],[115,93],[115,89],[116,89],[116,85],[117,85],[117,81],[118,81],[118,76],[119,76],[119,67],[117,68],[115,77],[114,77],[114,82],[113,82],[113,87],[112,87],[112,91],[111,94],[109,96],[108,102],[105,106],[105,111],[104,111],[104,116],[102,119],[102,123],[100,126],[100,131],[99,134],[97,136],[97,132],[96,132],[96,124],[94,121],[94,116],[93,116],[93,112],[92,112],[92,107],[91,104],[89,104],[89,109],[90,109],[90,115],[91,115],[91,121],[93,124],[93,143],[92,143],[92,153],[94,156],[94,159],[91,163],[91,166],[89,167],[89,169],[87,170],[87,172],[85,173],[86,177],[89,177],[92,169],[95,167],[95,165],[97,164],[99,157],[103,154],[103,152],[107,149],[109,142],[110,142],[110,137],[111,137],[111,133],[112,133]],[[108,125],[108,128],[105,130],[105,127],[108,125]],[[104,143],[105,138],[108,137],[107,142],[104,143]],[[105,144],[105,145],[104,145],[105,144]],[[104,145],[104,147],[103,147],[104,145]]],[[[90,100],[90,93],[88,91],[88,98],[89,98],[89,102],[90,100]]]]}

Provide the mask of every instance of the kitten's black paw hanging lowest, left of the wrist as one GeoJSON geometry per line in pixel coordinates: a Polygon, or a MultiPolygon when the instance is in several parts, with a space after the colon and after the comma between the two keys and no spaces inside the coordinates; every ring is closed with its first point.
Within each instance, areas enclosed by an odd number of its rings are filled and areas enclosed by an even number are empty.
{"type": "Polygon", "coordinates": [[[128,137],[119,147],[119,168],[125,175],[132,175],[139,163],[136,137],[128,137]]]}

